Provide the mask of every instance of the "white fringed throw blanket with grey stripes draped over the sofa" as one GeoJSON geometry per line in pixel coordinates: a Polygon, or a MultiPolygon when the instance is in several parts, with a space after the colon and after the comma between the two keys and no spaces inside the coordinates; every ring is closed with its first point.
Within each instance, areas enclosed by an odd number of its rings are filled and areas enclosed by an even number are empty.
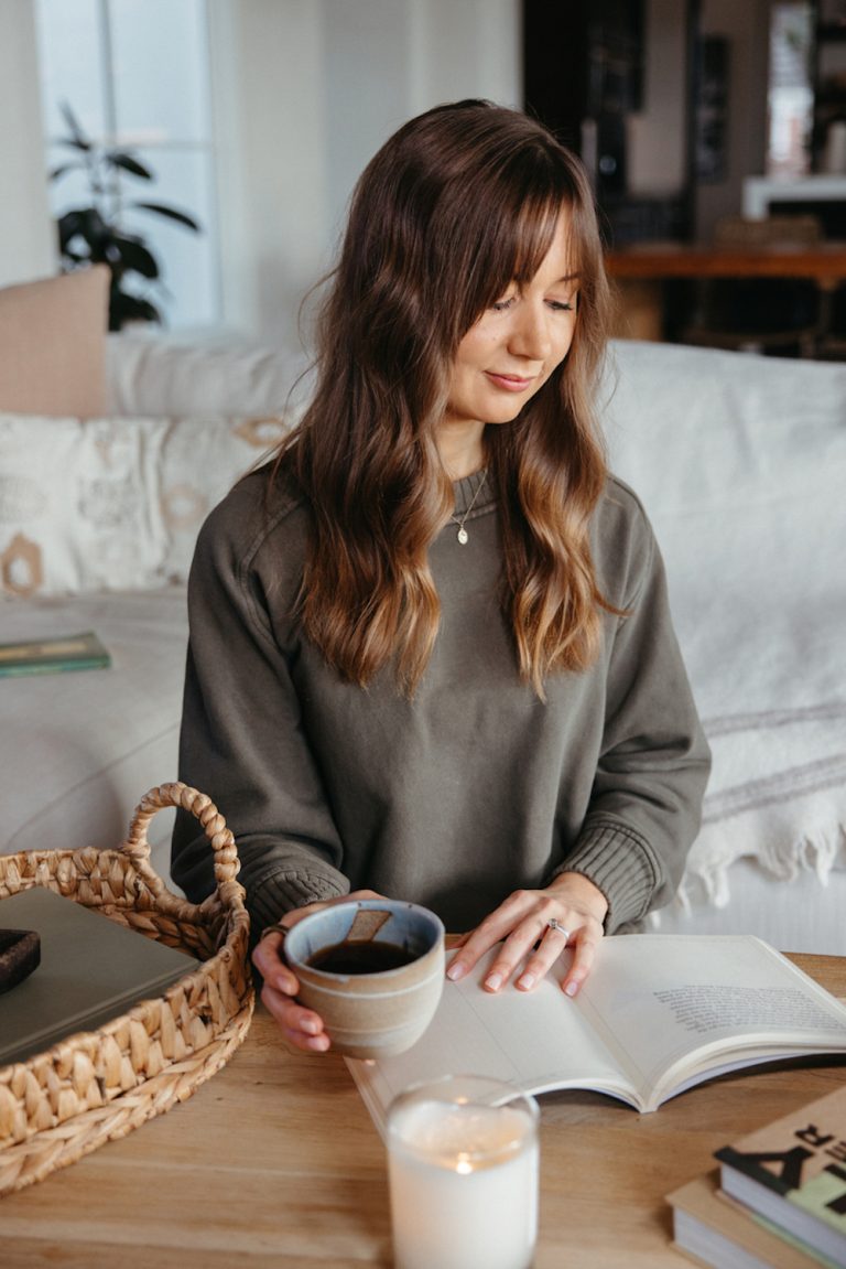
{"type": "Polygon", "coordinates": [[[680,902],[728,868],[846,867],[846,365],[615,346],[613,470],[642,497],[714,770],[680,902]]]}

